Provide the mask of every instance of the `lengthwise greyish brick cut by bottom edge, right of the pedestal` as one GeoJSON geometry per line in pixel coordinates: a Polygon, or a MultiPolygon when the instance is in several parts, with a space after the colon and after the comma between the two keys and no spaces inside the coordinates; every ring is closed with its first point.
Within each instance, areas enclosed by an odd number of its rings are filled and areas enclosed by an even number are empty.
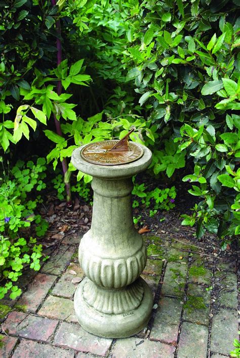
{"type": "Polygon", "coordinates": [[[178,345],[178,358],[206,358],[208,328],[183,322],[178,345]]]}

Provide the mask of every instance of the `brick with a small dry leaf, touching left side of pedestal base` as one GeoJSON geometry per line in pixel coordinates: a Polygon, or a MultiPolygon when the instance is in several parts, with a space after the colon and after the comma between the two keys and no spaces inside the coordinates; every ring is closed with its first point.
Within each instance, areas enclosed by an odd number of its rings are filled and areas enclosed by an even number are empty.
{"type": "Polygon", "coordinates": [[[77,285],[72,283],[71,280],[74,277],[84,277],[84,271],[79,267],[79,264],[70,263],[66,271],[61,276],[60,280],[56,283],[52,294],[55,296],[61,296],[66,298],[72,298],[76,290],[77,285]],[[73,275],[70,272],[75,272],[73,275]]]}

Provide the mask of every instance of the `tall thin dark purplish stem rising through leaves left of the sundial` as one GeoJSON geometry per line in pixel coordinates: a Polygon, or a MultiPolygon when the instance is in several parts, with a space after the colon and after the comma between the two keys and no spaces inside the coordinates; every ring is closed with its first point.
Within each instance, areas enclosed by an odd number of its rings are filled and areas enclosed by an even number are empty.
{"type": "MultiPolygon", "coordinates": [[[[56,5],[56,1],[52,0],[52,5],[55,6],[56,5]]],[[[62,62],[62,44],[61,44],[61,23],[60,23],[60,19],[57,18],[56,20],[56,31],[59,35],[59,38],[57,38],[57,65],[59,65],[62,62]]],[[[58,81],[57,82],[57,94],[60,96],[60,94],[62,93],[62,82],[58,81]]],[[[62,130],[61,130],[61,125],[60,125],[60,120],[57,120],[56,115],[54,114],[54,122],[55,122],[55,127],[56,127],[56,132],[58,135],[60,135],[61,137],[63,137],[62,135],[62,130]]],[[[71,206],[72,202],[71,202],[71,186],[70,186],[70,180],[69,180],[69,175],[66,175],[68,170],[68,164],[67,164],[67,160],[66,158],[63,158],[62,160],[62,171],[63,171],[63,176],[64,176],[64,184],[65,184],[65,190],[66,190],[66,200],[67,200],[67,206],[71,206]],[[67,178],[68,176],[68,178],[67,178]]]]}

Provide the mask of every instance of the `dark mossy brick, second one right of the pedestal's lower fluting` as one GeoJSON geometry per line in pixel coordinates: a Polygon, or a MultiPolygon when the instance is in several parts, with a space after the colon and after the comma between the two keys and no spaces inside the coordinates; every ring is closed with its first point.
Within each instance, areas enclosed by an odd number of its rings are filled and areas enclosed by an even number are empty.
{"type": "Polygon", "coordinates": [[[167,264],[161,295],[182,297],[186,281],[187,265],[170,262],[167,264]]]}

